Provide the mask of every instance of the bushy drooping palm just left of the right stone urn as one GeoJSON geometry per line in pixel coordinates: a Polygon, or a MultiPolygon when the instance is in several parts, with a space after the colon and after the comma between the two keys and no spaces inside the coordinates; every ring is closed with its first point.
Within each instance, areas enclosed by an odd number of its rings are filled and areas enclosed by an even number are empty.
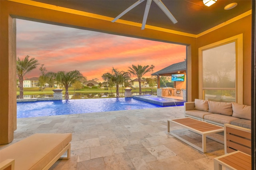
{"type": "Polygon", "coordinates": [[[130,73],[125,71],[118,71],[114,67],[112,73],[105,73],[101,76],[105,82],[109,84],[115,84],[116,86],[116,98],[119,98],[119,86],[124,84],[127,80],[130,80],[130,73]]]}

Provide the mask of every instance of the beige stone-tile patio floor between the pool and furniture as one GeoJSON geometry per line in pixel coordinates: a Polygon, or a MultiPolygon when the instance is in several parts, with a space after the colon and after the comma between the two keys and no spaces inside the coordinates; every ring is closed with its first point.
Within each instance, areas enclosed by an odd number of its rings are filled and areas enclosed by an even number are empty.
{"type": "Polygon", "coordinates": [[[34,133],[72,133],[71,158],[51,170],[213,170],[224,145],[208,139],[202,153],[167,133],[167,119],[183,112],[177,106],[19,118],[12,143],[34,133]]]}

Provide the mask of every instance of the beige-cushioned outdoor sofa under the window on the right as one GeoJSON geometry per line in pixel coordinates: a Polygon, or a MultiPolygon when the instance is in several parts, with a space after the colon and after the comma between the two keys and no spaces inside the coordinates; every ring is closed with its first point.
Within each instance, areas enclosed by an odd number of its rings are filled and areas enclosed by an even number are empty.
{"type": "Polygon", "coordinates": [[[236,125],[251,129],[251,106],[235,102],[214,102],[195,99],[184,103],[184,116],[216,125],[236,125]]]}

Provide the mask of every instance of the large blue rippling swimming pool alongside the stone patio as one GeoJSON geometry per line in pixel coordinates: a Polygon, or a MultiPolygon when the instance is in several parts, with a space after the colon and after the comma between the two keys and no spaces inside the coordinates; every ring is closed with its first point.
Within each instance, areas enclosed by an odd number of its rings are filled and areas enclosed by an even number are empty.
{"type": "Polygon", "coordinates": [[[17,102],[17,118],[162,107],[133,98],[17,102]]]}

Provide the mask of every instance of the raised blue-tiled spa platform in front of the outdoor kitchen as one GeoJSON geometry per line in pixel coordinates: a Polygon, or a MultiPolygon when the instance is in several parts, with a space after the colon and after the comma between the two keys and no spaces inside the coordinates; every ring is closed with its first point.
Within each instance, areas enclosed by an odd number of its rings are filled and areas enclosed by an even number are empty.
{"type": "Polygon", "coordinates": [[[156,104],[159,106],[183,106],[184,100],[171,98],[171,97],[157,97],[154,95],[139,95],[139,96],[132,96],[132,98],[136,100],[140,100],[143,102],[148,102],[152,104],[156,104]]]}

